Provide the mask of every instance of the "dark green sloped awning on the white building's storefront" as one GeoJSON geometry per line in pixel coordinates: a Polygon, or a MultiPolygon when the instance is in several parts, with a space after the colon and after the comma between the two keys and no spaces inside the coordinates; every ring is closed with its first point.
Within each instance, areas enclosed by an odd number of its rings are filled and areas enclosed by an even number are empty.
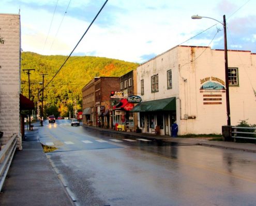
{"type": "Polygon", "coordinates": [[[143,101],[133,107],[131,112],[175,111],[176,97],[143,101]]]}

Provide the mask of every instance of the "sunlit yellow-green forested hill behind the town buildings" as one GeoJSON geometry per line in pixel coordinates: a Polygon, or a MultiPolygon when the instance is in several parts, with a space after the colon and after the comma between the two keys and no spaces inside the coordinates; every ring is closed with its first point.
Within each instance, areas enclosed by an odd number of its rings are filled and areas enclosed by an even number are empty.
{"type": "MultiPolygon", "coordinates": [[[[46,86],[61,68],[67,56],[43,56],[23,52],[21,58],[22,94],[28,97],[28,75],[23,70],[34,68],[35,71],[30,72],[31,99],[37,102],[38,90],[42,88],[42,85],[39,84],[42,82],[41,74],[46,74],[44,76],[44,86],[46,86]]],[[[44,100],[47,104],[57,107],[63,100],[81,100],[81,90],[92,78],[96,76],[119,77],[135,70],[138,65],[137,63],[102,57],[70,57],[44,90],[44,100]]]]}

